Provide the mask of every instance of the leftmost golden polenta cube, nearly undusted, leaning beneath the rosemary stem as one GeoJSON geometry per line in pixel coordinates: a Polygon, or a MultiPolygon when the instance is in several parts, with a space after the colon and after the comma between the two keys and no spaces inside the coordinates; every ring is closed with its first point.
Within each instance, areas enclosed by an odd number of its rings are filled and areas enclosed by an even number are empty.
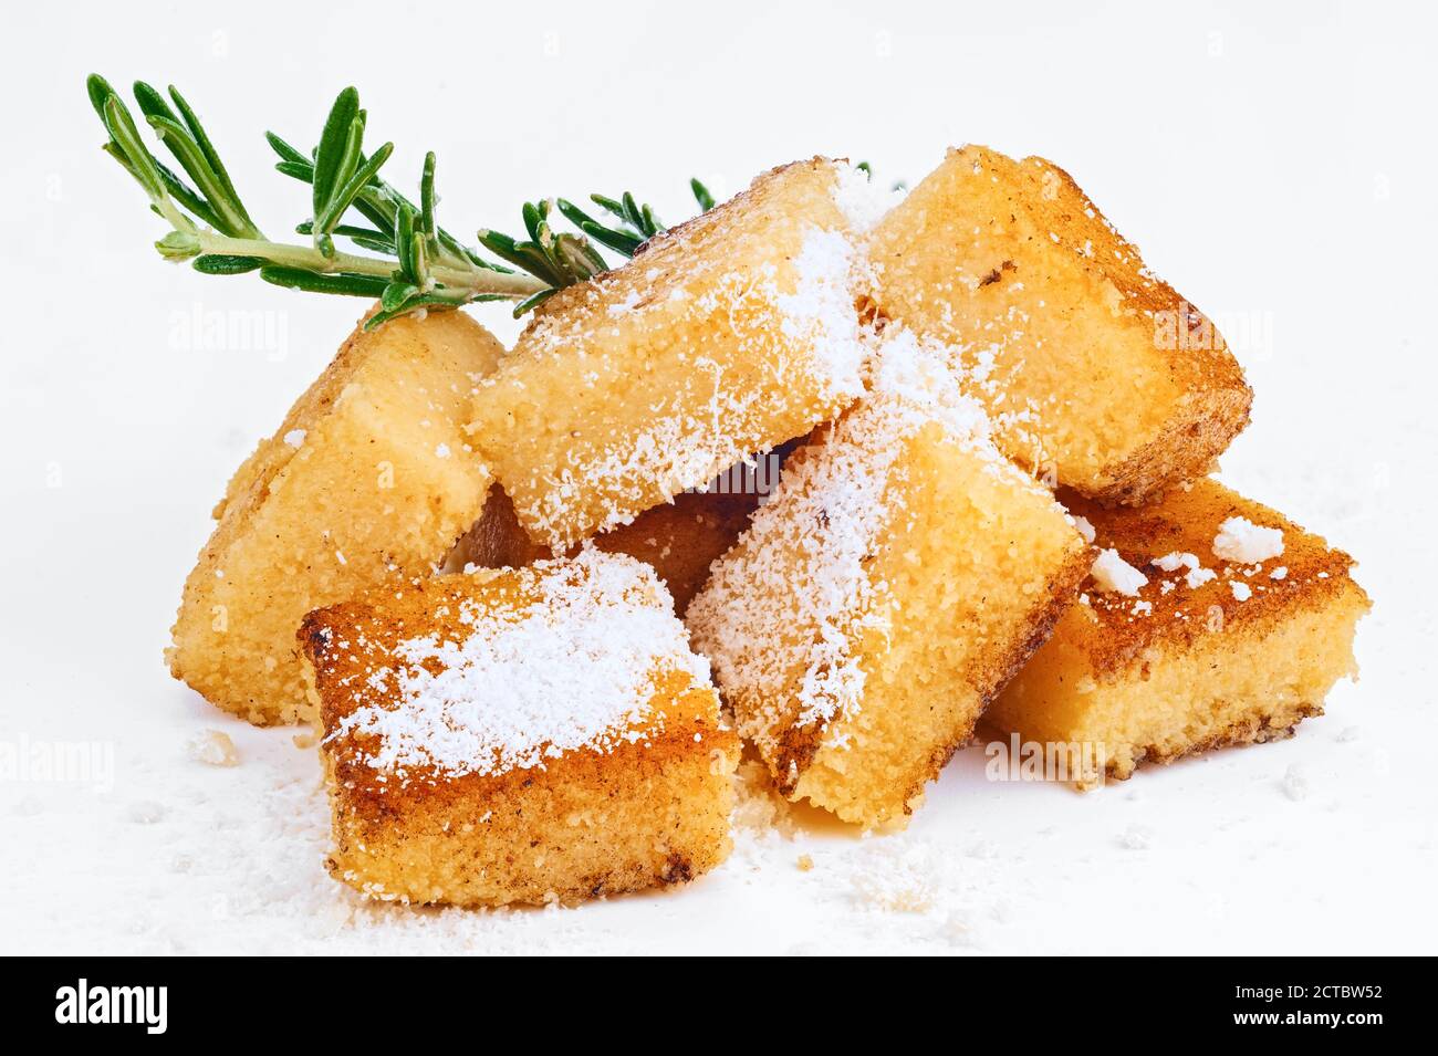
{"type": "Polygon", "coordinates": [[[479,514],[490,476],[462,425],[502,353],[462,312],[357,329],[216,507],[171,674],[252,723],[305,718],[305,613],[429,575],[479,514]]]}

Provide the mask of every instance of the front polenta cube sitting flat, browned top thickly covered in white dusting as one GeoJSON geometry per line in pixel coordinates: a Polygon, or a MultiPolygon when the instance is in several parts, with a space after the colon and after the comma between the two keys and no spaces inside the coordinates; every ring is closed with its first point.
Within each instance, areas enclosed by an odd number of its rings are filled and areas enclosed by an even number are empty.
{"type": "Polygon", "coordinates": [[[729,851],[735,734],[653,570],[585,549],[311,613],[331,872],[374,898],[572,902],[729,851]]]}

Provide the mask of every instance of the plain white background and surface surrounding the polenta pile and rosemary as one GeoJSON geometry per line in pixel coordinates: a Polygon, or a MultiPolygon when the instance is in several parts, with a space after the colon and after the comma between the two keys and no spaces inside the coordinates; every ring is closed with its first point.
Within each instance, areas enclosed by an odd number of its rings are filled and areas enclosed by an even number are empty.
{"type": "MultiPolygon", "coordinates": [[[[0,782],[0,951],[1438,945],[1431,9],[141,7],[7,16],[0,738],[99,741],[114,780],[0,782]],[[679,217],[692,172],[731,193],[814,152],[881,180],[922,177],[951,142],[1054,158],[1227,323],[1257,405],[1224,478],[1359,557],[1363,681],[1287,743],[1089,796],[988,783],[971,750],[902,838],[775,838],[660,897],[357,908],[321,869],[312,751],[211,710],[160,654],[211,503],[361,306],[152,259],[160,223],[96,149],[91,69],[178,83],[272,233],[306,207],[262,129],[308,145],[351,80],[398,142],[391,180],[439,152],[441,220],[464,234],[516,227],[525,197],[624,187],[679,217]],[[260,349],[190,328],[256,310],[276,328],[260,349]],[[193,761],[203,728],[242,764],[193,761]],[[866,908],[869,856],[932,875],[933,907],[866,908]]],[[[503,309],[476,315],[513,332],[503,309]]]]}

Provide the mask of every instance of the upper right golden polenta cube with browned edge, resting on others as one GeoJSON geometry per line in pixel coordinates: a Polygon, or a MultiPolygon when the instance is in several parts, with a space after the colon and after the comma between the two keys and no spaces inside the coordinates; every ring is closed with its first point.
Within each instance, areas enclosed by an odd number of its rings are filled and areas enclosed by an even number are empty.
{"type": "Polygon", "coordinates": [[[962,349],[999,447],[1063,486],[1140,501],[1248,424],[1222,335],[1053,162],[951,151],[869,254],[879,310],[962,349]]]}

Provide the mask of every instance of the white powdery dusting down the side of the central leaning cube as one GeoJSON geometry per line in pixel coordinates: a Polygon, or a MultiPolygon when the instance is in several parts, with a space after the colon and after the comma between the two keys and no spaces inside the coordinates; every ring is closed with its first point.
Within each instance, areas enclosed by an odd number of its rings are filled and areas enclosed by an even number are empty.
{"type": "Polygon", "coordinates": [[[801,727],[824,728],[860,708],[866,675],[857,644],[890,628],[889,586],[869,566],[887,526],[902,516],[886,496],[905,477],[906,438],[936,424],[989,471],[1038,487],[992,445],[984,409],[961,392],[942,345],[890,328],[871,384],[823,440],[785,464],[778,488],[741,545],[716,562],[686,616],[719,684],[743,685],[755,703],[768,703],[741,726],[761,743],[788,726],[778,713],[789,707],[794,678],[798,714],[788,718],[801,727]]]}

